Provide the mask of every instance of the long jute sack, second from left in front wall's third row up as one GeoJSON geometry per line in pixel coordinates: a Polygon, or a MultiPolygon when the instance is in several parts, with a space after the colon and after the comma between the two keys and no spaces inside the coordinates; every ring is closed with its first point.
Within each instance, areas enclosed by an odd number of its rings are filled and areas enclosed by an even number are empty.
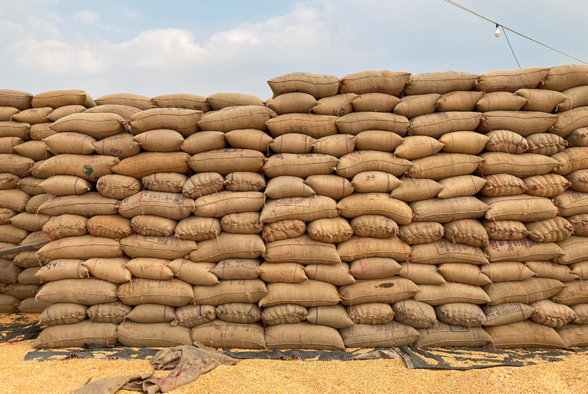
{"type": "Polygon", "coordinates": [[[194,300],[192,286],[178,279],[170,281],[135,279],[121,284],[117,295],[127,305],[155,303],[181,307],[194,300]]]}

